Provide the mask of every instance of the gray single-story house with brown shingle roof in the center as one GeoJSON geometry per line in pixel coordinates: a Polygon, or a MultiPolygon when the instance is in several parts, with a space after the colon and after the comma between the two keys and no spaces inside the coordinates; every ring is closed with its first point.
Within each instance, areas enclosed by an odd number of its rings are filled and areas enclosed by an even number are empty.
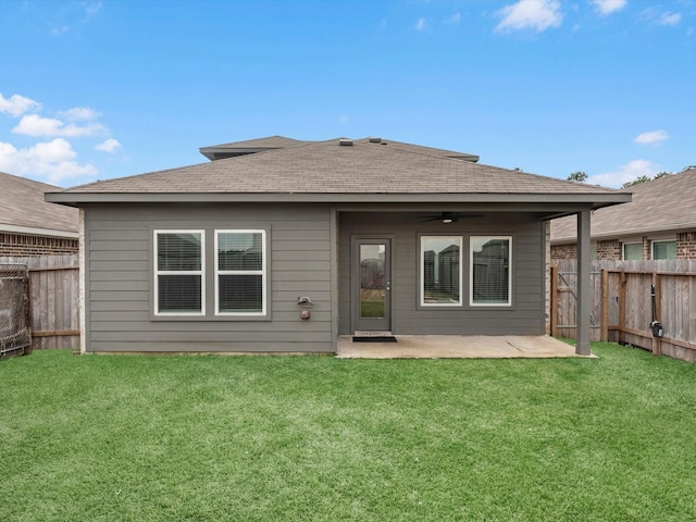
{"type": "MultiPolygon", "coordinates": [[[[544,335],[547,221],[579,213],[584,245],[589,212],[631,198],[381,138],[201,150],[213,161],[47,195],[83,215],[82,351],[544,335]]],[[[588,355],[579,297],[576,350],[588,355]]]]}

